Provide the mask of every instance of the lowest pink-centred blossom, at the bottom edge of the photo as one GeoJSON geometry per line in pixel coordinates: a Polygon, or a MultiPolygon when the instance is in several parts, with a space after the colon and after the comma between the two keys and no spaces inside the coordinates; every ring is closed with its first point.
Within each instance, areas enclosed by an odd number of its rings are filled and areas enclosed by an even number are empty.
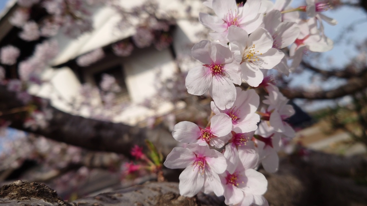
{"type": "Polygon", "coordinates": [[[262,195],[266,192],[268,181],[265,176],[253,168],[258,162],[255,150],[239,150],[240,161],[233,172],[228,170],[219,177],[224,185],[224,197],[227,205],[243,201],[246,195],[262,195]]]}

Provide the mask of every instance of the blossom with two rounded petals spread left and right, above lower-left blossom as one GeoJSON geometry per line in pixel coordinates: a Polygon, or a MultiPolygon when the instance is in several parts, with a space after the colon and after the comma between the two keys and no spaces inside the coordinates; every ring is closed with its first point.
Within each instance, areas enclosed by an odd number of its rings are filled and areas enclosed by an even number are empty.
{"type": "Polygon", "coordinates": [[[210,119],[210,126],[200,128],[193,122],[178,122],[173,127],[172,136],[182,143],[197,143],[221,148],[230,139],[232,119],[223,113],[214,115],[210,119]]]}

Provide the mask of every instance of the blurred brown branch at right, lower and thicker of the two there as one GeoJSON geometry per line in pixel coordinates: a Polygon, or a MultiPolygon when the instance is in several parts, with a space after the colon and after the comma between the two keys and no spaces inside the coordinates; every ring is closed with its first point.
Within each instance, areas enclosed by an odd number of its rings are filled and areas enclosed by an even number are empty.
{"type": "Polygon", "coordinates": [[[354,94],[355,92],[367,88],[366,79],[367,74],[364,74],[361,77],[353,77],[350,78],[346,84],[328,91],[307,92],[292,88],[279,88],[279,90],[288,99],[336,99],[346,95],[354,94]]]}

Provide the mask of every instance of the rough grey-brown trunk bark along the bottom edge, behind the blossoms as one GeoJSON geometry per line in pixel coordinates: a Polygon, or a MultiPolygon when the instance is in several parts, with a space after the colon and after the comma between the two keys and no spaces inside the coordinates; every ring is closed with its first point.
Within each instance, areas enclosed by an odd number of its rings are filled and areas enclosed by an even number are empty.
{"type": "MultiPolygon", "coordinates": [[[[366,178],[367,158],[340,157],[321,152],[310,152],[306,158],[283,158],[278,172],[264,170],[268,180],[265,198],[270,206],[364,206],[367,205],[367,185],[359,185],[355,175],[366,178]],[[354,172],[353,172],[354,171],[354,172]]],[[[123,190],[63,202],[55,191],[39,183],[17,181],[0,189],[0,205],[80,205],[80,206],[223,206],[223,197],[199,193],[192,198],[179,196],[178,183],[148,182],[123,190]],[[28,190],[28,189],[29,190],[28,190]],[[15,192],[14,192],[15,191],[15,192]],[[27,192],[17,192],[27,191],[27,192]],[[20,195],[14,195],[20,194],[20,195]],[[7,201],[7,202],[5,202],[7,201]]]]}

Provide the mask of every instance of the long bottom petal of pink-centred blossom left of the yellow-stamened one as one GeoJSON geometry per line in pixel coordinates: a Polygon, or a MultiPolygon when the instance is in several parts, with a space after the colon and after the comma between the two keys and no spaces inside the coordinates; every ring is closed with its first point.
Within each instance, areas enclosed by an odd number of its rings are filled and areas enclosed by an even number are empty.
{"type": "MultiPolygon", "coordinates": [[[[190,93],[190,92],[189,92],[190,93]]],[[[213,98],[215,105],[224,110],[230,108],[236,99],[236,88],[227,78],[214,77],[212,87],[209,88],[210,96],[213,98]]]]}

